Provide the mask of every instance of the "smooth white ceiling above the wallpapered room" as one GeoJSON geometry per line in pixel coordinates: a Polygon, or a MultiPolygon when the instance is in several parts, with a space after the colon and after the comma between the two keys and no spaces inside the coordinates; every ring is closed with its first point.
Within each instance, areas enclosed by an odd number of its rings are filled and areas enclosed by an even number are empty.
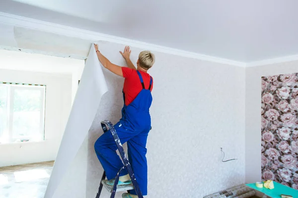
{"type": "Polygon", "coordinates": [[[241,62],[298,54],[298,0],[0,0],[0,11],[241,62]]]}

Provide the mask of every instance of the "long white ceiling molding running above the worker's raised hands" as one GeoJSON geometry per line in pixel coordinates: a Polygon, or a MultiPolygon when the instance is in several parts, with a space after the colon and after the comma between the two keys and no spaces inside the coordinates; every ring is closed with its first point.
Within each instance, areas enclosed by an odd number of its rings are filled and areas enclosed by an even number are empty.
{"type": "Polygon", "coordinates": [[[55,24],[55,23],[49,23],[49,22],[45,22],[45,21],[40,21],[40,20],[31,19],[31,18],[27,18],[27,17],[17,16],[17,15],[13,15],[13,14],[4,13],[4,12],[0,12],[0,23],[18,26],[18,27],[35,29],[35,30],[39,30],[39,31],[51,32],[51,33],[60,34],[60,35],[64,35],[64,36],[90,40],[93,42],[108,41],[108,42],[118,43],[118,44],[122,44],[122,45],[129,45],[129,46],[135,47],[135,48],[159,51],[159,52],[164,52],[164,53],[168,53],[168,54],[174,54],[174,55],[195,58],[195,59],[200,59],[200,60],[206,60],[206,61],[211,61],[211,62],[217,62],[217,63],[222,63],[222,64],[229,64],[229,65],[240,66],[240,67],[246,66],[245,62],[239,62],[239,61],[234,61],[234,60],[225,59],[225,58],[219,58],[219,57],[215,57],[215,56],[209,56],[209,55],[205,55],[205,54],[194,53],[194,52],[185,51],[185,50],[179,50],[179,49],[168,48],[168,47],[164,47],[164,46],[153,45],[153,44],[149,44],[149,43],[145,43],[145,42],[135,41],[135,40],[131,40],[131,39],[125,39],[125,38],[121,38],[121,37],[115,37],[115,36],[111,36],[111,35],[82,30],[82,29],[59,25],[59,24],[55,24]]]}

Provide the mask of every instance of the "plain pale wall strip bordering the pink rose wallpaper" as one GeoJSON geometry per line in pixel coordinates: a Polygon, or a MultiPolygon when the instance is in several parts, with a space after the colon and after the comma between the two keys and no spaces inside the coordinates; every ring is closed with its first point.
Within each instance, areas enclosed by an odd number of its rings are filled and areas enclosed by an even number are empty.
{"type": "Polygon", "coordinates": [[[245,181],[261,181],[261,77],[298,72],[298,61],[248,67],[245,72],[245,181]]]}

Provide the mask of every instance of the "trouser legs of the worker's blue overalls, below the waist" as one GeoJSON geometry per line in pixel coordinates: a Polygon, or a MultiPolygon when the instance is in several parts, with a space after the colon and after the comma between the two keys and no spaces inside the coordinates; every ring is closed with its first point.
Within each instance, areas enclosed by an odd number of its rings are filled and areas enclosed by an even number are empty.
{"type": "MultiPolygon", "coordinates": [[[[147,159],[146,159],[146,143],[150,128],[144,131],[137,131],[133,128],[122,124],[119,121],[115,124],[116,133],[119,136],[121,144],[127,142],[128,159],[136,176],[142,194],[147,195],[147,159]]],[[[96,155],[106,171],[108,180],[115,178],[121,167],[124,166],[119,155],[116,153],[117,146],[110,131],[100,136],[94,144],[96,155]]],[[[126,175],[127,170],[123,169],[120,176],[126,175]]],[[[130,191],[131,194],[137,195],[135,190],[130,191]]]]}

